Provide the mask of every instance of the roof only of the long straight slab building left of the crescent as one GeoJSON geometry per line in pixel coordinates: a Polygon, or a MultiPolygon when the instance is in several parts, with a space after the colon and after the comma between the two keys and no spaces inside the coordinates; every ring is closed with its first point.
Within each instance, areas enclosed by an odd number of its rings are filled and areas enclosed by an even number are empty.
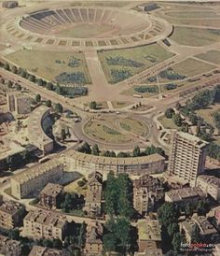
{"type": "Polygon", "coordinates": [[[61,164],[62,162],[59,158],[54,158],[43,164],[35,164],[34,166],[26,169],[25,171],[16,174],[11,179],[14,179],[22,184],[30,179],[37,178],[42,174],[49,172],[52,168],[55,168],[61,164]]]}

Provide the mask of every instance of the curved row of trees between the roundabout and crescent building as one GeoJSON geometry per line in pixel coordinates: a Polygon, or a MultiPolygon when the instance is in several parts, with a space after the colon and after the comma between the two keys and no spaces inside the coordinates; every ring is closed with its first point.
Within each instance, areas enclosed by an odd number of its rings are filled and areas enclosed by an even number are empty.
{"type": "Polygon", "coordinates": [[[144,151],[142,151],[139,146],[135,146],[135,148],[133,149],[133,151],[131,153],[121,151],[116,154],[115,151],[113,151],[113,150],[112,151],[110,151],[110,150],[101,151],[97,144],[94,144],[92,147],[90,147],[89,143],[84,142],[83,145],[81,147],[79,147],[77,150],[79,152],[86,153],[86,154],[101,155],[101,156],[106,156],[106,157],[123,157],[123,158],[139,157],[139,156],[147,156],[147,155],[151,155],[151,154],[155,154],[155,153],[165,156],[164,150],[159,147],[155,147],[154,145],[147,146],[144,149],[144,151]]]}

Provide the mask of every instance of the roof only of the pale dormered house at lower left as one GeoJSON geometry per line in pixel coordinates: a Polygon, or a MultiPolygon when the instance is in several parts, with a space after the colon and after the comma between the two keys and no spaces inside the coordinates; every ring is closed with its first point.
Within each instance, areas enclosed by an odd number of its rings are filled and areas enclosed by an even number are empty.
{"type": "Polygon", "coordinates": [[[34,221],[44,225],[52,225],[58,228],[62,228],[67,221],[61,214],[46,210],[29,211],[24,220],[34,221]]]}

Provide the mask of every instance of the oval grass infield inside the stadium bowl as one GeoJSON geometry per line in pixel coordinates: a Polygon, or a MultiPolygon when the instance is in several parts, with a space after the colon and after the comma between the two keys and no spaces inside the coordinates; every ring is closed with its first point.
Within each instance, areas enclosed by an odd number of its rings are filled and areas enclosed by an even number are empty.
{"type": "Polygon", "coordinates": [[[105,24],[79,24],[76,27],[68,28],[59,32],[60,36],[77,38],[90,38],[110,31],[112,27],[105,24]]]}

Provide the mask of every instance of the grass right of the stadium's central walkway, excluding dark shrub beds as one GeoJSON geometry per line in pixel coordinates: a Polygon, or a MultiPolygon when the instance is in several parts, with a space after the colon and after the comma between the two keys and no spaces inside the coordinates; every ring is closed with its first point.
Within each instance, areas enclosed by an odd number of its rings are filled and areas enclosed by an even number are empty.
{"type": "MultiPolygon", "coordinates": [[[[130,77],[142,72],[144,69],[163,62],[169,59],[173,54],[167,50],[164,50],[157,44],[124,49],[124,50],[102,50],[98,52],[101,64],[107,80],[110,83],[114,83],[114,78],[111,75],[111,70],[126,70],[130,73],[130,77]],[[107,58],[123,58],[123,60],[130,62],[129,64],[109,64],[107,58]],[[132,64],[131,62],[135,62],[132,64]]],[[[123,80],[123,79],[122,79],[123,80]]]]}

